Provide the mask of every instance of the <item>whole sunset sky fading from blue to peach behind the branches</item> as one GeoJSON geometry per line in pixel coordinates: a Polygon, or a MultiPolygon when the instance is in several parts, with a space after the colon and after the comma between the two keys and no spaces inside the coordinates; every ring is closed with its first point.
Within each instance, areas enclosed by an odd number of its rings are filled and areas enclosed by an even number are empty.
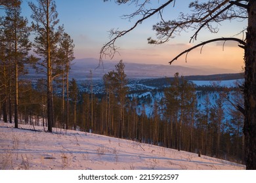
{"type": "MultiPolygon", "coordinates": [[[[36,0],[32,0],[35,4],[36,0]]],[[[188,4],[191,0],[176,1],[165,8],[166,20],[177,18],[179,12],[188,12],[188,4]]],[[[125,20],[121,18],[123,14],[131,14],[135,10],[134,5],[117,5],[114,0],[103,2],[103,0],[55,0],[60,24],[64,24],[65,31],[74,39],[75,58],[99,58],[100,48],[109,41],[110,29],[129,29],[136,20],[125,20]]],[[[151,7],[158,7],[165,3],[163,0],[153,0],[151,7]]],[[[23,0],[22,15],[32,22],[30,16],[32,12],[28,7],[28,0],[23,0]]],[[[155,37],[152,25],[156,24],[160,17],[154,17],[140,24],[135,30],[117,40],[119,54],[114,57],[118,61],[133,63],[154,63],[168,65],[172,58],[180,52],[199,44],[208,39],[219,37],[231,37],[239,33],[246,27],[244,22],[223,22],[217,34],[211,34],[203,30],[198,35],[198,40],[189,43],[193,31],[182,32],[180,36],[171,39],[162,45],[151,45],[147,43],[148,37],[155,37]]],[[[236,36],[242,38],[242,35],[236,36]]],[[[186,67],[215,67],[222,69],[232,69],[236,72],[242,71],[244,66],[244,50],[237,46],[236,42],[215,42],[193,50],[188,54],[187,62],[182,56],[173,65],[186,67]]],[[[110,58],[106,58],[110,59],[110,58]]]]}

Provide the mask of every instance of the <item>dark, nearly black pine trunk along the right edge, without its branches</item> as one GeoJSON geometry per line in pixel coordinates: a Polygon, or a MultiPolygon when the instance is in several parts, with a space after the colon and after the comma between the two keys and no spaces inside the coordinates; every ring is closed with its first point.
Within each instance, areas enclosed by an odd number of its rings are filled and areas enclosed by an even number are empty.
{"type": "Polygon", "coordinates": [[[256,1],[249,1],[245,46],[245,164],[256,169],[256,1]]]}

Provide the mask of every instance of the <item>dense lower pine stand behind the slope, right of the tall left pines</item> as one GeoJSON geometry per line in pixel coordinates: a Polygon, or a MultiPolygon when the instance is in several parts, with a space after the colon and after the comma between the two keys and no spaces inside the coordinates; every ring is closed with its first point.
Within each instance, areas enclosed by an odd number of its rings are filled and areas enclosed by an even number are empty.
{"type": "Polygon", "coordinates": [[[177,73],[148,115],[145,103],[139,105],[129,92],[123,61],[102,79],[103,95],[77,90],[78,100],[72,102],[77,105],[77,118],[72,118],[77,129],[244,163],[244,116],[236,107],[244,102],[239,88],[215,90],[214,105],[206,95],[199,110],[196,86],[177,73]]]}

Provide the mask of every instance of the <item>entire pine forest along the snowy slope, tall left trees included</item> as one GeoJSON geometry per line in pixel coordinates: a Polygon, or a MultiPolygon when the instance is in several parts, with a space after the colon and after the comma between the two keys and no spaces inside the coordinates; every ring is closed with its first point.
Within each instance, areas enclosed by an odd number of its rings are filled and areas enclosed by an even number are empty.
{"type": "MultiPolygon", "coordinates": [[[[128,97],[123,61],[103,76],[103,96],[93,93],[92,74],[91,92],[79,92],[77,81],[69,79],[74,42],[59,25],[54,1],[29,3],[32,25],[21,16],[22,1],[0,2],[6,12],[0,20],[0,117],[4,122],[14,122],[15,127],[43,125],[50,132],[53,127],[93,131],[244,162],[243,116],[232,108],[232,120],[224,119],[225,92],[213,107],[205,99],[205,109],[198,111],[195,86],[177,73],[148,116],[146,107],[137,107],[136,97],[128,97]],[[35,54],[30,54],[32,49],[35,54]],[[44,77],[36,82],[21,78],[28,66],[44,77]]],[[[234,100],[241,104],[240,92],[236,93],[234,100]]]]}

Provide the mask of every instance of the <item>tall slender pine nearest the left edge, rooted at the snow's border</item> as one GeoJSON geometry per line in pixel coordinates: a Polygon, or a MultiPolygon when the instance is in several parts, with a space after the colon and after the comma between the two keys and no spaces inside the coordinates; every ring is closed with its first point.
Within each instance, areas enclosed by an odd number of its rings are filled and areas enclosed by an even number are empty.
{"type": "Polygon", "coordinates": [[[15,0],[12,3],[14,3],[14,6],[6,10],[4,32],[9,47],[7,58],[14,62],[14,123],[15,127],[18,128],[18,78],[24,71],[24,63],[28,63],[28,51],[32,44],[29,41],[28,20],[20,15],[22,2],[15,0]]]}

